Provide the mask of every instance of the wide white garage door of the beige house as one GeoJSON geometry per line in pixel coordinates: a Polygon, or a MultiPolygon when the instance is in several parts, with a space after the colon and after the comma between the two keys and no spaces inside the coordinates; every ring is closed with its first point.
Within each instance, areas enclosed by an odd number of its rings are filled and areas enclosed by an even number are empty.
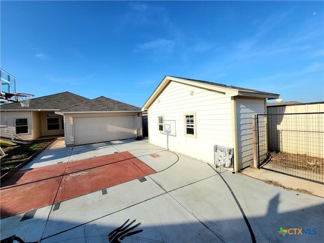
{"type": "Polygon", "coordinates": [[[74,145],[135,138],[135,115],[73,118],[74,145]]]}

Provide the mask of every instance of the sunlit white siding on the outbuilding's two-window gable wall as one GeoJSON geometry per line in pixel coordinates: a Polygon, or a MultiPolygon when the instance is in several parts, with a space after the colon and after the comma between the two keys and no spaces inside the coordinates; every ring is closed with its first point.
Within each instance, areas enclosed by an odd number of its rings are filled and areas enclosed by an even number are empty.
{"type": "Polygon", "coordinates": [[[230,95],[170,82],[148,108],[149,142],[214,163],[214,145],[232,147],[230,95]],[[190,95],[190,92],[192,92],[190,95]],[[196,138],[185,135],[184,114],[195,114],[196,138]],[[172,124],[158,131],[158,116],[172,124]]]}

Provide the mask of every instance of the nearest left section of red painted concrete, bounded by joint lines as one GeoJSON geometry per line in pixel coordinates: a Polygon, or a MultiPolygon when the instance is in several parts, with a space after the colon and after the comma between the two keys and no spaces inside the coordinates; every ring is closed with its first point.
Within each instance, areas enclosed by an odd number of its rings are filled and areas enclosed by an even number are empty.
{"type": "Polygon", "coordinates": [[[1,218],[51,205],[62,176],[1,190],[1,218]]]}

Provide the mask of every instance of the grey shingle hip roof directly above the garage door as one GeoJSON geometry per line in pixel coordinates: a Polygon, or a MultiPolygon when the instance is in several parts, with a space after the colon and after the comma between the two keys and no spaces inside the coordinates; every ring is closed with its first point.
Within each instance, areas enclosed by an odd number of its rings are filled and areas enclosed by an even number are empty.
{"type": "Polygon", "coordinates": [[[100,96],[98,98],[64,108],[60,111],[61,112],[68,112],[68,111],[87,112],[87,111],[132,111],[132,110],[138,111],[141,110],[141,108],[100,96]]]}

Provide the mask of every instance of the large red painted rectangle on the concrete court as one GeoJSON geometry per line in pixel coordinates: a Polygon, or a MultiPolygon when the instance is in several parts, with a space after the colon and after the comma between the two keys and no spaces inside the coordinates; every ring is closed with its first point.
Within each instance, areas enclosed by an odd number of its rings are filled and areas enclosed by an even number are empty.
{"type": "Polygon", "coordinates": [[[155,173],[153,169],[129,152],[18,171],[1,189],[1,218],[42,208],[152,173],[155,173]]]}

